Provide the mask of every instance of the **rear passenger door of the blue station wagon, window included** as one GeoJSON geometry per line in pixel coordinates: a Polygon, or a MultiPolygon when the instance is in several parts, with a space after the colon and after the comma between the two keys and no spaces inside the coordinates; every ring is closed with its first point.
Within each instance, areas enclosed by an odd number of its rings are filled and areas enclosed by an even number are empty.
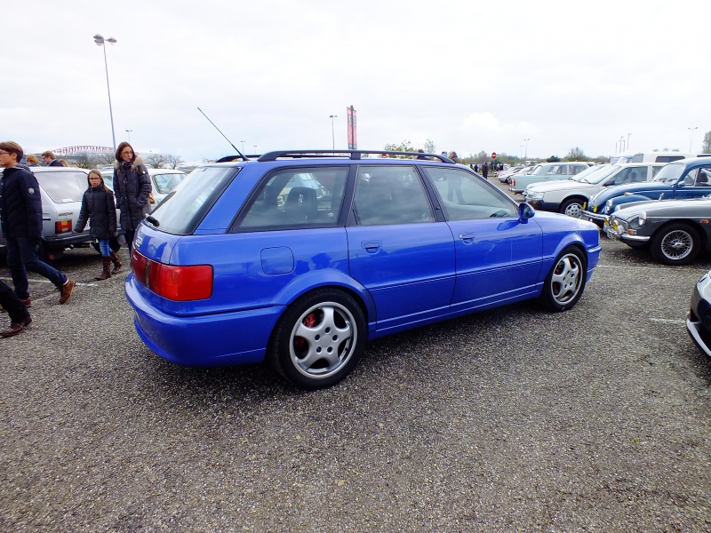
{"type": "Polygon", "coordinates": [[[362,165],[348,226],[351,276],[370,291],[377,330],[396,329],[449,312],[454,243],[435,220],[417,171],[362,165]]]}

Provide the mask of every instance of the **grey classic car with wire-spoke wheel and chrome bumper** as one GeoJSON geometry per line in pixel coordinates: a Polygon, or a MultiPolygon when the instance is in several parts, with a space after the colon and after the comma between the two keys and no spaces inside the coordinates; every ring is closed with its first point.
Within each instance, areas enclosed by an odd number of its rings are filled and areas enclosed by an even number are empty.
{"type": "Polygon", "coordinates": [[[711,197],[626,203],[604,230],[633,248],[648,247],[661,263],[686,265],[711,246],[711,197]]]}

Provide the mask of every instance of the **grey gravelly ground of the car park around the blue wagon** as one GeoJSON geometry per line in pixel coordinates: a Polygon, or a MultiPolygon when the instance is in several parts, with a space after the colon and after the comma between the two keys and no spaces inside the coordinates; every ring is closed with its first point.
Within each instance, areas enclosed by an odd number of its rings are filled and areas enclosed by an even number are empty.
{"type": "Polygon", "coordinates": [[[315,393],[164,362],[125,276],[73,251],[75,296],[34,278],[0,339],[0,530],[711,531],[711,361],[683,322],[711,260],[602,240],[570,312],[381,339],[315,393]]]}

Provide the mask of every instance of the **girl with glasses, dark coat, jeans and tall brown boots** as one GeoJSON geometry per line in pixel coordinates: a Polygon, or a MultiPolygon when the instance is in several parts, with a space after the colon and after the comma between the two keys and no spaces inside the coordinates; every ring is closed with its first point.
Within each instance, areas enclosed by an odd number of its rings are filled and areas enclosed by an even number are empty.
{"type": "Polygon", "coordinates": [[[116,236],[116,203],[114,202],[114,193],[104,183],[100,171],[89,171],[86,180],[89,183],[89,188],[82,196],[82,209],[79,211],[79,219],[76,220],[75,231],[82,233],[87,220],[92,220],[90,235],[99,241],[104,266],[101,274],[96,275],[94,279],[106,280],[122,267],[118,256],[108,245],[108,240],[116,236]],[[114,263],[113,271],[110,270],[112,262],[114,263]]]}

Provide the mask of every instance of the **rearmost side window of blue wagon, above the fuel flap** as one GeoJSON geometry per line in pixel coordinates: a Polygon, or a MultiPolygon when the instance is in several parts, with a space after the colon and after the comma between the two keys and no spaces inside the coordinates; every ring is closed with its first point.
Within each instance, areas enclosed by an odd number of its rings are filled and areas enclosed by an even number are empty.
{"type": "Polygon", "coordinates": [[[329,227],[338,222],[348,166],[276,171],[263,183],[241,228],[329,227]]]}

